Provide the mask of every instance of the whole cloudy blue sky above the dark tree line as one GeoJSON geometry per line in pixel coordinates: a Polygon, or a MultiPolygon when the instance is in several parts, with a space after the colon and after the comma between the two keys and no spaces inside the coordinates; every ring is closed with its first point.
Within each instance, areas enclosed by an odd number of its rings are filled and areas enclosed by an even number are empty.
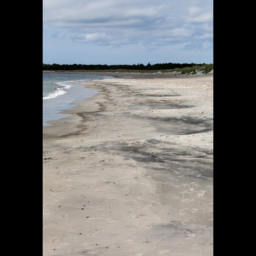
{"type": "Polygon", "coordinates": [[[213,0],[43,0],[43,63],[213,64],[213,0]]]}

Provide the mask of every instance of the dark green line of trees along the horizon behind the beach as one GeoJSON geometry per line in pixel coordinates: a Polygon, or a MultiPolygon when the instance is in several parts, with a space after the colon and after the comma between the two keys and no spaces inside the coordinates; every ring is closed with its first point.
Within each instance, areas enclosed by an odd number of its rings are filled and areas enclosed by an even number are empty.
{"type": "Polygon", "coordinates": [[[195,64],[195,63],[162,63],[162,64],[153,64],[150,62],[147,65],[142,63],[133,64],[133,65],[85,65],[85,64],[44,64],[43,70],[108,70],[108,69],[127,69],[127,70],[164,70],[164,69],[175,69],[175,68],[186,68],[192,67],[194,65],[202,66],[203,64],[195,64]]]}

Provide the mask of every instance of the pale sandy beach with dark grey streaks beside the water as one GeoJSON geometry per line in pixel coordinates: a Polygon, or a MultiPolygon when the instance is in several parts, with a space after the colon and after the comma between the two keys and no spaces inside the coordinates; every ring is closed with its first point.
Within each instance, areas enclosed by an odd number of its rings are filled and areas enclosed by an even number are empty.
{"type": "Polygon", "coordinates": [[[43,256],[212,256],[213,74],[96,74],[43,127],[43,256]]]}

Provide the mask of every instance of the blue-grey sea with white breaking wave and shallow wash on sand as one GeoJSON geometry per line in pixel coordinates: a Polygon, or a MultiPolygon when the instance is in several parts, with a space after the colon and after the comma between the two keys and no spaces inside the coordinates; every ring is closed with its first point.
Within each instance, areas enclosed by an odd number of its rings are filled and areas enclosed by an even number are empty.
{"type": "Polygon", "coordinates": [[[113,78],[113,76],[43,73],[43,126],[51,126],[48,121],[71,116],[60,111],[74,108],[76,105],[70,105],[71,103],[97,94],[96,90],[70,82],[103,78],[113,78]]]}

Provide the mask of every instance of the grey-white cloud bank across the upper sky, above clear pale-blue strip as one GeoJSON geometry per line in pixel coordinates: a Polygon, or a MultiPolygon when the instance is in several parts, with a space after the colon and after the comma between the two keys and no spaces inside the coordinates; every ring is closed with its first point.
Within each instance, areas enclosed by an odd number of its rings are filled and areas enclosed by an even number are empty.
{"type": "Polygon", "coordinates": [[[48,37],[87,46],[211,49],[213,1],[43,0],[43,38],[48,37]]]}

